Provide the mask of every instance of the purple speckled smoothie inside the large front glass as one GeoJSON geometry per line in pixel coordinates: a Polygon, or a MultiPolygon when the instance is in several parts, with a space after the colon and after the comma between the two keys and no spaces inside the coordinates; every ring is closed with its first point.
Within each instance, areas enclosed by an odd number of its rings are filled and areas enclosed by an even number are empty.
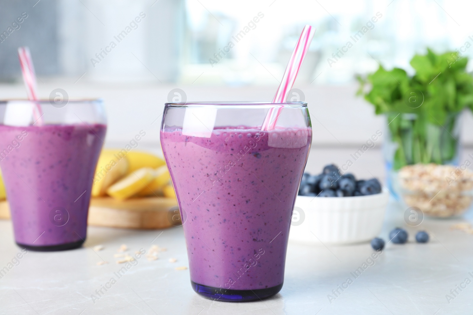
{"type": "Polygon", "coordinates": [[[292,208],[310,128],[161,132],[184,222],[191,281],[254,290],[283,283],[292,208]]]}

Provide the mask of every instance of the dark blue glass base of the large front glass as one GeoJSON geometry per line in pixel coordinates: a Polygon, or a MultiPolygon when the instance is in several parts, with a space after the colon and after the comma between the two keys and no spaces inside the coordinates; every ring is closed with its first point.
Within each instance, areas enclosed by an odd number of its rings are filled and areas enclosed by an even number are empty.
{"type": "Polygon", "coordinates": [[[194,291],[204,298],[222,302],[249,302],[269,298],[282,289],[282,283],[271,288],[254,290],[230,290],[208,287],[191,281],[194,291]]]}

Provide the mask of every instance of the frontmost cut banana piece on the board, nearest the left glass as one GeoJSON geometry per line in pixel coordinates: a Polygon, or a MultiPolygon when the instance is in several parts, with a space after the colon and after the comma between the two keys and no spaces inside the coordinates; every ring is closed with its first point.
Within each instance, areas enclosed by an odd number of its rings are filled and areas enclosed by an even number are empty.
{"type": "Polygon", "coordinates": [[[110,186],[107,194],[115,199],[125,200],[143,190],[155,177],[155,170],[141,168],[110,186]]]}

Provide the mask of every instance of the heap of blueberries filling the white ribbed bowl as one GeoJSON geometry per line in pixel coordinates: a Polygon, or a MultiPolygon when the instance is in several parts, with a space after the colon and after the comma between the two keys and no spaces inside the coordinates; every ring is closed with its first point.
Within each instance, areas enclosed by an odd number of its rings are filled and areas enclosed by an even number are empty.
{"type": "Polygon", "coordinates": [[[351,197],[379,194],[381,183],[376,179],[356,180],[353,174],[340,174],[336,165],[326,165],[321,174],[304,173],[299,196],[351,197]]]}

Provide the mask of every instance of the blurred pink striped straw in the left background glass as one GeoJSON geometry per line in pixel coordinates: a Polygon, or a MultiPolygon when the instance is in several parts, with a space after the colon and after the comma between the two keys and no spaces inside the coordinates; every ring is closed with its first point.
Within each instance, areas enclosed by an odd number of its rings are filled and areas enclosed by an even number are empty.
{"type": "MultiPolygon", "coordinates": [[[[35,67],[33,66],[33,60],[31,59],[28,47],[18,48],[18,59],[20,60],[21,73],[23,74],[23,81],[25,82],[28,100],[37,101],[38,93],[36,92],[35,67]]],[[[35,123],[37,122],[38,125],[43,124],[43,111],[41,111],[39,103],[35,103],[35,106],[33,107],[33,117],[35,123]]]]}

